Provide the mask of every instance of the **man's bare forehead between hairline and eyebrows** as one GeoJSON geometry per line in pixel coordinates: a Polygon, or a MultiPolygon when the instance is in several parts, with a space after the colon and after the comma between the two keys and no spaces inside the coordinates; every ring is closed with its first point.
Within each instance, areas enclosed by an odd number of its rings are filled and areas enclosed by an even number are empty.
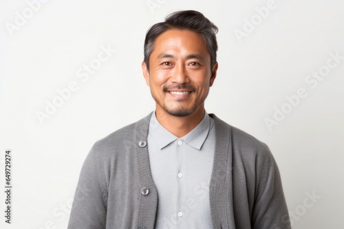
{"type": "Polygon", "coordinates": [[[164,52],[198,53],[210,56],[201,34],[187,29],[169,29],[156,38],[152,56],[164,52]]]}

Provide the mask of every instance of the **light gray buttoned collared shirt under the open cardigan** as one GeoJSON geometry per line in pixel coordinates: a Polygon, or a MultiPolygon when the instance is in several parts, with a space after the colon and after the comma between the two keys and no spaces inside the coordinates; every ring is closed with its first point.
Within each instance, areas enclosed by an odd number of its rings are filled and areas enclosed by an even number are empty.
{"type": "Polygon", "coordinates": [[[209,184],[215,152],[215,126],[206,112],[182,138],[151,116],[148,132],[151,173],[158,189],[155,228],[212,228],[209,184]]]}

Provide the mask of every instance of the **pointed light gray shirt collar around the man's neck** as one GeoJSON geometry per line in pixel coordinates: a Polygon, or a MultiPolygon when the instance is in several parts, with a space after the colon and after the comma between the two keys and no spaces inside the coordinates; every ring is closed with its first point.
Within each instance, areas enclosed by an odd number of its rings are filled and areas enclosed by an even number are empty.
{"type": "MultiPolygon", "coordinates": [[[[213,122],[208,113],[205,112],[202,121],[191,132],[183,136],[181,139],[186,143],[194,147],[195,149],[201,149],[209,131],[213,127],[213,122]]],[[[151,115],[149,122],[149,133],[153,136],[155,142],[160,149],[166,147],[176,139],[177,136],[166,130],[156,119],[155,112],[151,115]]]]}

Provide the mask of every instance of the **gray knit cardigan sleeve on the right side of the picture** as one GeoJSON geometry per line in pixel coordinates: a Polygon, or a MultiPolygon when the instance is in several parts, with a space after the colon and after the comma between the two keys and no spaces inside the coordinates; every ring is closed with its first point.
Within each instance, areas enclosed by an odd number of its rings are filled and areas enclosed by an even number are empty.
{"type": "Polygon", "coordinates": [[[252,210],[252,228],[289,229],[291,228],[290,218],[279,169],[268,146],[264,151],[257,154],[256,158],[256,190],[255,204],[252,210]]]}

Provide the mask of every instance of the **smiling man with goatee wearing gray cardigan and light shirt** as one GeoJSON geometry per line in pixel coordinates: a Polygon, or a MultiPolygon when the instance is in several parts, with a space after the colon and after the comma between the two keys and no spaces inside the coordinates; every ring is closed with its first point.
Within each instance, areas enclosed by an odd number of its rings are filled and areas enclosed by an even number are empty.
{"type": "Polygon", "coordinates": [[[204,109],[216,32],[195,11],[149,29],[142,71],[155,112],[92,147],[68,228],[290,228],[268,147],[204,109]]]}

